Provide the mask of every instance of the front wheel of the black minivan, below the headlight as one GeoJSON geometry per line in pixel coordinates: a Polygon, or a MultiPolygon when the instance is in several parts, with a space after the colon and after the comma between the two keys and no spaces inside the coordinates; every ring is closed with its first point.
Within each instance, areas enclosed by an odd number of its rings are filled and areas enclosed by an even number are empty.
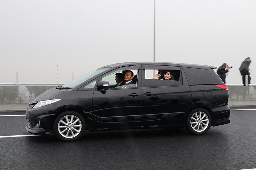
{"type": "Polygon", "coordinates": [[[53,123],[55,136],[61,141],[75,141],[84,135],[85,121],[82,115],[66,111],[58,115],[53,123]]]}

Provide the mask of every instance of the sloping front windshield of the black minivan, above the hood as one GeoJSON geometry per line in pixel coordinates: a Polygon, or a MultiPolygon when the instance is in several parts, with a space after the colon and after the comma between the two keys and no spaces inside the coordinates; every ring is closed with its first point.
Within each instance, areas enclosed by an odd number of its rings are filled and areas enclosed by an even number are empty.
{"type": "Polygon", "coordinates": [[[79,77],[79,78],[76,78],[70,82],[68,82],[67,84],[65,85],[62,85],[62,87],[75,87],[77,85],[80,85],[81,83],[83,83],[84,81],[88,80],[89,78],[92,78],[93,76],[105,71],[105,70],[108,70],[109,68],[100,68],[100,69],[97,69],[97,70],[93,70],[87,74],[84,74],[83,76],[79,77]]]}

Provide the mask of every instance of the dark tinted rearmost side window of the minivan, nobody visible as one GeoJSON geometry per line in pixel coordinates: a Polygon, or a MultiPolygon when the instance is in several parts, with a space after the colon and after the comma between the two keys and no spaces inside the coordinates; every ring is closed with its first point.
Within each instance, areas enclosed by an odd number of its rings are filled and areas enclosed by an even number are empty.
{"type": "Polygon", "coordinates": [[[223,81],[212,69],[183,67],[188,85],[223,85],[223,81]]]}

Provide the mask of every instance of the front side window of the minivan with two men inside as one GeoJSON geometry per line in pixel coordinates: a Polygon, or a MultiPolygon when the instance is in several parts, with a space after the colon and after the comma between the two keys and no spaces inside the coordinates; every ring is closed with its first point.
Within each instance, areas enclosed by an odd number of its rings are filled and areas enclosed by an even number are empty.
{"type": "Polygon", "coordinates": [[[138,69],[123,68],[103,75],[101,81],[108,81],[109,89],[136,88],[138,87],[137,76],[138,69]],[[125,84],[125,82],[128,83],[125,84]]]}

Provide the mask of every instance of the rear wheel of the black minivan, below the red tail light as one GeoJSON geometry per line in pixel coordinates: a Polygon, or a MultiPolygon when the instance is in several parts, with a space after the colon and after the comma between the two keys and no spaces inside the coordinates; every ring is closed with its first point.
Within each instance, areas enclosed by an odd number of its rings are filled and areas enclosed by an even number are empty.
{"type": "Polygon", "coordinates": [[[207,110],[197,108],[189,113],[186,129],[193,135],[205,134],[212,125],[212,117],[207,110]]]}

